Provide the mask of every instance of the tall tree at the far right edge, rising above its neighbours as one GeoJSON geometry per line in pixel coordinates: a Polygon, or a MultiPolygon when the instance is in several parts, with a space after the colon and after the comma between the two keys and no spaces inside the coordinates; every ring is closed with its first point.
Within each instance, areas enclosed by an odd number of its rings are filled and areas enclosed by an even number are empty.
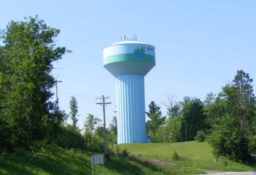
{"type": "MultiPolygon", "coordinates": [[[[218,117],[213,120],[213,130],[209,141],[217,155],[245,161],[249,159],[249,154],[254,153],[256,103],[252,81],[249,74],[237,71],[233,84],[225,85],[216,99],[216,102],[218,99],[222,102],[222,108],[214,112],[218,114],[218,117]],[[229,120],[229,123],[226,120],[229,120]],[[228,129],[229,132],[225,133],[224,129],[228,129]],[[222,136],[223,134],[225,136],[222,136]],[[234,145],[236,148],[231,149],[234,145]]],[[[212,109],[209,112],[213,113],[212,109]]]]}

